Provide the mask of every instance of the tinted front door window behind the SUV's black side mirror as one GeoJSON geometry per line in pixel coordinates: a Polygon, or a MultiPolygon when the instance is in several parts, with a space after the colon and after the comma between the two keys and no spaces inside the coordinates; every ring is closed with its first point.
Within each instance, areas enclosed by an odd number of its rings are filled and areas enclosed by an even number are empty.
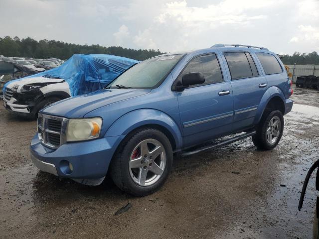
{"type": "MultiPolygon", "coordinates": [[[[183,75],[191,72],[201,72],[205,77],[205,82],[200,85],[207,85],[223,81],[223,75],[215,54],[198,56],[191,60],[191,62],[183,70],[183,75]]],[[[196,87],[199,85],[193,85],[196,87]]]]}

